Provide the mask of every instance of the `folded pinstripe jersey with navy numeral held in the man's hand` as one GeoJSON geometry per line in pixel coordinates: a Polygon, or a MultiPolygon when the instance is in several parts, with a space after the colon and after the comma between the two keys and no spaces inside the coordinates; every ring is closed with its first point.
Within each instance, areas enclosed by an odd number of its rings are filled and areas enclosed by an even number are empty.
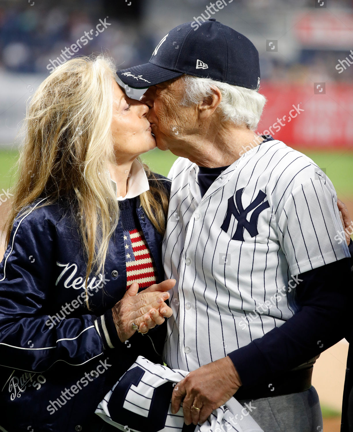
{"type": "MultiPolygon", "coordinates": [[[[170,369],[138,356],[105,395],[95,413],[124,431],[184,431],[187,426],[183,409],[181,407],[178,413],[172,414],[171,399],[175,384],[186,375],[186,371],[170,369]]],[[[206,422],[197,425],[194,432],[261,432],[260,426],[251,418],[254,409],[256,407],[251,403],[243,407],[232,397],[214,410],[206,422]]]]}

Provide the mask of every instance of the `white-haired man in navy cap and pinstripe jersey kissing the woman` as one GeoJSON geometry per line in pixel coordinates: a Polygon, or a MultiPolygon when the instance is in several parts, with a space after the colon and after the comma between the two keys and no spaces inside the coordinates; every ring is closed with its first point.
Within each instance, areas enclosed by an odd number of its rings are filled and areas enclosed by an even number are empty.
{"type": "Polygon", "coordinates": [[[337,194],[311,159],[254,132],[265,98],[251,41],[213,18],[191,24],[149,63],[118,71],[148,87],[157,145],[180,156],[163,242],[177,280],[164,356],[190,373],[172,409],[182,403],[196,425],[234,395],[264,431],[320,431],[312,365],[343,337],[352,283],[337,194]]]}

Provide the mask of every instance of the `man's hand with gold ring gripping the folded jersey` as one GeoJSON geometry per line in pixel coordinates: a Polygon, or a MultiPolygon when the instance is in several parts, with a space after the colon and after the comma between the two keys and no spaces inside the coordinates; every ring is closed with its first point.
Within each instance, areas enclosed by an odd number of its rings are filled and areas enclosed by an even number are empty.
{"type": "Polygon", "coordinates": [[[172,414],[182,407],[187,425],[204,423],[213,410],[226,403],[242,382],[232,360],[226,356],[189,372],[175,385],[172,394],[172,414]],[[201,408],[201,410],[196,410],[201,408]]]}

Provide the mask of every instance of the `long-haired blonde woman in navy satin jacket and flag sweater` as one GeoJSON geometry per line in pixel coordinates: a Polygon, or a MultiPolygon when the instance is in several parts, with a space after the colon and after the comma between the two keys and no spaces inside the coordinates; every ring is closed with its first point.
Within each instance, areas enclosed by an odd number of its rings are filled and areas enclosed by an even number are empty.
{"type": "Polygon", "coordinates": [[[109,430],[102,397],[137,355],[161,362],[169,183],[141,164],[148,107],[115,76],[108,57],[69,60],[29,104],[0,264],[1,431],[109,430]]]}

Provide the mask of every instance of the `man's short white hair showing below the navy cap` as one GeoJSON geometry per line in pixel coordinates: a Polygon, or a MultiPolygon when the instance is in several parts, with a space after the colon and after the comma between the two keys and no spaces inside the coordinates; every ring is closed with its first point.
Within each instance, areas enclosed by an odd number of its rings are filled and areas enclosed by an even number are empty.
{"type": "Polygon", "coordinates": [[[183,78],[185,94],[181,105],[198,105],[213,93],[214,87],[218,87],[222,93],[222,101],[219,104],[222,120],[231,121],[237,125],[245,123],[250,130],[257,129],[266,103],[266,98],[258,93],[258,89],[251,90],[245,87],[232,86],[198,76],[184,75],[183,78]]]}

